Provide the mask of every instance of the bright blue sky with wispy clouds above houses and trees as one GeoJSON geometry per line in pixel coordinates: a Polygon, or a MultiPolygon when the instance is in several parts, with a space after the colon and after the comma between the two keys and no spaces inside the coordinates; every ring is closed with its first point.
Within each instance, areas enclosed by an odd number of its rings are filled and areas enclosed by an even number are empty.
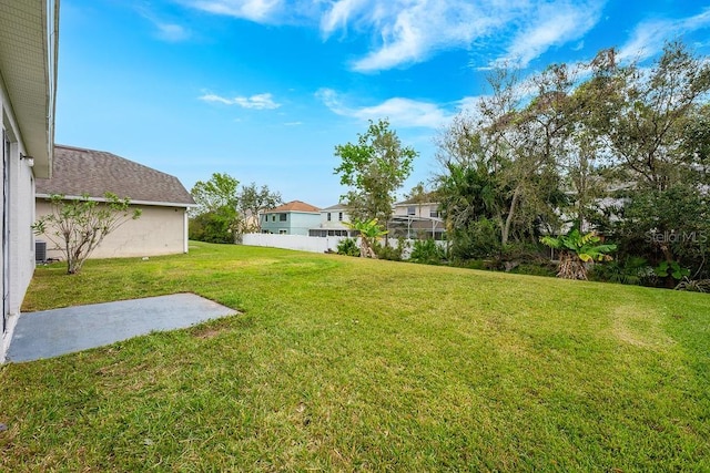
{"type": "Polygon", "coordinates": [[[345,192],[335,145],[368,119],[419,152],[402,192],[429,179],[496,65],[649,61],[674,39],[710,55],[693,0],[62,0],[60,21],[57,143],[321,207],[345,192]]]}

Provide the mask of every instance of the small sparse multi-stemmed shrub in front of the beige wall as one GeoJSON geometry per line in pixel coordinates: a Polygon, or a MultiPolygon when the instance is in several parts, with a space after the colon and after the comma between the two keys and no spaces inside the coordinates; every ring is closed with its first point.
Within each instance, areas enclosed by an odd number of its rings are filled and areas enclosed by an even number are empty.
{"type": "Polygon", "coordinates": [[[99,203],[84,194],[80,198],[65,199],[51,195],[52,212],[39,218],[32,228],[44,234],[64,254],[67,274],[75,275],[101,241],[130,219],[141,216],[141,209],[131,210],[131,200],[115,194],[104,194],[99,203]]]}

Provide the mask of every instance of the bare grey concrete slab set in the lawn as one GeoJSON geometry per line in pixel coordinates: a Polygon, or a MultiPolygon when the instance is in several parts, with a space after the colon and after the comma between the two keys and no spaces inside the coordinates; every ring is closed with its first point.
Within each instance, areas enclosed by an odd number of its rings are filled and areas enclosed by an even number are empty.
{"type": "Polygon", "coordinates": [[[22,313],[14,328],[7,361],[58,357],[234,313],[234,309],[194,294],[22,313]]]}

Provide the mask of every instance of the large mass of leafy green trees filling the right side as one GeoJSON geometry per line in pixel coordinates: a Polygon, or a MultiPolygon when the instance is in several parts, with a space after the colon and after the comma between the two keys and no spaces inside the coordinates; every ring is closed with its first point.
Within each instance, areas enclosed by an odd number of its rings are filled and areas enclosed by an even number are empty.
{"type": "MultiPolygon", "coordinates": [[[[476,113],[452,122],[436,184],[456,259],[494,257],[571,223],[617,243],[622,260],[679,261],[693,278],[710,277],[710,62],[678,42],[650,68],[617,55],[552,64],[526,88],[515,72],[495,71],[476,113]]],[[[584,277],[576,259],[595,256],[579,249],[562,258],[584,277]]],[[[656,282],[615,270],[611,278],[656,282]]]]}

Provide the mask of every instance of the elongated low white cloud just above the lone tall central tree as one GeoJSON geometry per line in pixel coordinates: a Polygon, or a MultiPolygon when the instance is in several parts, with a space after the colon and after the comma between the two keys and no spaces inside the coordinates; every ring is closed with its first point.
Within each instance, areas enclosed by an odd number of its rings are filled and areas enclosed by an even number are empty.
{"type": "Polygon", "coordinates": [[[338,115],[362,121],[388,119],[393,125],[400,127],[439,128],[452,119],[450,113],[434,103],[410,99],[393,97],[373,106],[352,107],[344,105],[332,89],[321,89],[316,97],[338,115]]]}

